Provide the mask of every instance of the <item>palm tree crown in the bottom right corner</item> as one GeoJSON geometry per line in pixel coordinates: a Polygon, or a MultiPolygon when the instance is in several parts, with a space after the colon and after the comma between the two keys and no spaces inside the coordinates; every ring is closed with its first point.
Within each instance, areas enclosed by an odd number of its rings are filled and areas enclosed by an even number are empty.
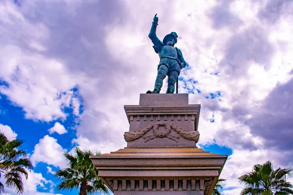
{"type": "Polygon", "coordinates": [[[238,179],[245,188],[241,195],[292,195],[293,185],[286,181],[288,176],[292,176],[292,168],[273,170],[270,161],[263,165],[253,166],[251,173],[247,173],[238,179]]]}

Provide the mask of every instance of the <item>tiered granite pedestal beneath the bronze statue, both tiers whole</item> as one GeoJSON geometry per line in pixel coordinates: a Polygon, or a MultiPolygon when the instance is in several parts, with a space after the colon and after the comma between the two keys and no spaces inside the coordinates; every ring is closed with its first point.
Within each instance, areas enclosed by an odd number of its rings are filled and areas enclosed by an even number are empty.
{"type": "Polygon", "coordinates": [[[91,156],[114,195],[210,195],[227,155],[196,147],[200,105],[188,94],[141,94],[125,106],[127,147],[91,156]]]}

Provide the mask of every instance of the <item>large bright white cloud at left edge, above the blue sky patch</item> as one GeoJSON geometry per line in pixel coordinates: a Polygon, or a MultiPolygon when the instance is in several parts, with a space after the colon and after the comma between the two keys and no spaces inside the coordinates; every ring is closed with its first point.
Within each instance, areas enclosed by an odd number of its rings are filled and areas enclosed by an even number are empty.
{"type": "Polygon", "coordinates": [[[69,107],[75,83],[60,62],[7,45],[0,63],[6,64],[0,66],[0,77],[9,83],[9,87],[0,86],[0,93],[21,106],[25,117],[44,121],[66,117],[62,109],[69,107]]]}

